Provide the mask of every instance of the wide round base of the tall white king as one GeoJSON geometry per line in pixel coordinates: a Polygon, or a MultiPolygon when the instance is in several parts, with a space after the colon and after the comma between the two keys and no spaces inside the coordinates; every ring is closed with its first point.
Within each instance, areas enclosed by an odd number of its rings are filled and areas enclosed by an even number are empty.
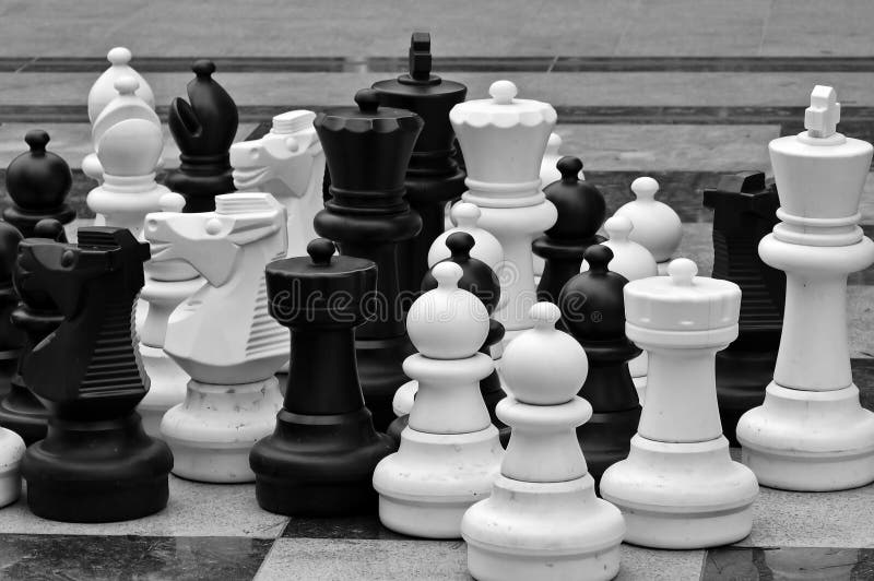
{"type": "Polygon", "coordinates": [[[742,461],[764,486],[846,490],[874,482],[874,414],[859,389],[802,391],[771,382],[737,423],[742,461]]]}

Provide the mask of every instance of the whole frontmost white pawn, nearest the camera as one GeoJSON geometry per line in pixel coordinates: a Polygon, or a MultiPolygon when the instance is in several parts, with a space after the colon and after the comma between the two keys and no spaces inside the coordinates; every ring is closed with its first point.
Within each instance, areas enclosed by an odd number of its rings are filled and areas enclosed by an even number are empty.
{"type": "Polygon", "coordinates": [[[480,580],[612,579],[625,525],[594,495],[574,428],[592,408],[576,395],[588,369],[582,347],[555,329],[558,307],[531,309],[534,328],[507,345],[509,395],[498,417],[512,427],[492,496],[464,514],[468,569],[480,580]]]}

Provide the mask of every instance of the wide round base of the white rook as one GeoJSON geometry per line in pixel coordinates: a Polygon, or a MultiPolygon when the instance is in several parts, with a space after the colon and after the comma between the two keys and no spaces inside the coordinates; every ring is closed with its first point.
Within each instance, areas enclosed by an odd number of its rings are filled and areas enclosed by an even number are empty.
{"type": "Polygon", "coordinates": [[[758,484],[729,441],[657,442],[635,435],[627,460],[601,477],[601,497],[625,517],[627,543],[693,549],[727,545],[753,527],[758,484]]]}

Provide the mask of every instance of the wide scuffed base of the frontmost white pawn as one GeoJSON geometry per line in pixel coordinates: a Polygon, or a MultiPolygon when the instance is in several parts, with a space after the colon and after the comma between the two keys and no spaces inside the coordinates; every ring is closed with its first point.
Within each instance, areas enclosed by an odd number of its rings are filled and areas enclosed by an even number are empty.
{"type": "Polygon", "coordinates": [[[590,475],[560,483],[499,476],[464,514],[468,570],[479,581],[613,579],[625,533],[616,507],[590,475]]]}

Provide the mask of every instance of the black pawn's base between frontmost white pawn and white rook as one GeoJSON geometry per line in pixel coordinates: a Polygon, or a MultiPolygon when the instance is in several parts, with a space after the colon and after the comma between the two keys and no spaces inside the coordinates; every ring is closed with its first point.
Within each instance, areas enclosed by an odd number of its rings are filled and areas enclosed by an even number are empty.
{"type": "Polygon", "coordinates": [[[638,424],[639,405],[623,412],[594,413],[589,422],[577,428],[577,440],[595,484],[601,482],[605,470],[628,458],[638,424]]]}

